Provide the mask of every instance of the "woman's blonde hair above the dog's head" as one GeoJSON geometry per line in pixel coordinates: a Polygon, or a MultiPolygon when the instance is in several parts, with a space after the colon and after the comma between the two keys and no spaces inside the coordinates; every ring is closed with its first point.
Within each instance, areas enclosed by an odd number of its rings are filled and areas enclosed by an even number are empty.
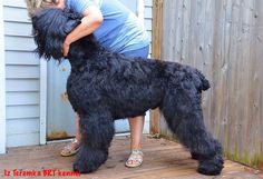
{"type": "Polygon", "coordinates": [[[58,0],[26,0],[28,16],[32,17],[36,11],[41,10],[51,4],[56,4],[58,0]]]}

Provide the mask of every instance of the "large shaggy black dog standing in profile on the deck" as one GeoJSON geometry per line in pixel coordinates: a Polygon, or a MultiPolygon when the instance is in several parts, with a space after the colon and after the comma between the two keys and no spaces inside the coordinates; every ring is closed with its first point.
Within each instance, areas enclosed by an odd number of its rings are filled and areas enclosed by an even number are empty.
{"type": "MultiPolygon", "coordinates": [[[[37,53],[60,61],[66,36],[81,16],[45,9],[32,17],[37,53]]],[[[218,175],[222,147],[204,126],[202,90],[208,81],[196,69],[175,62],[127,58],[103,48],[92,34],[70,46],[69,101],[80,116],[81,149],[74,170],[91,172],[108,157],[114,120],[159,108],[169,129],[199,161],[198,171],[218,175]]]]}

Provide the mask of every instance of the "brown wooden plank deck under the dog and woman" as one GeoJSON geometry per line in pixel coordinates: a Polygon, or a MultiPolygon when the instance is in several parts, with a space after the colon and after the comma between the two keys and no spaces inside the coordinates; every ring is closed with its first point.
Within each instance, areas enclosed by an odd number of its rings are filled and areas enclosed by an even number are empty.
{"type": "MultiPolygon", "coordinates": [[[[71,171],[75,157],[60,157],[60,149],[65,142],[49,143],[47,146],[20,147],[8,150],[7,155],[0,156],[0,178],[62,178],[60,175],[71,171]],[[13,172],[17,169],[18,171],[13,172]],[[53,177],[43,177],[47,169],[56,170],[53,177]],[[10,177],[4,177],[4,170],[10,171],[10,177]],[[13,176],[16,175],[25,175],[13,176]],[[29,171],[39,172],[39,177],[30,177],[29,171]]],[[[263,178],[262,172],[245,166],[226,160],[221,176],[206,177],[196,172],[197,162],[189,158],[189,153],[178,143],[165,139],[153,139],[145,136],[144,165],[139,168],[129,169],[124,166],[129,152],[128,137],[115,137],[109,159],[98,171],[81,175],[79,179],[217,179],[217,178],[263,178]]],[[[46,172],[48,173],[48,172],[46,172]]],[[[7,175],[7,172],[6,172],[7,175]]],[[[52,172],[50,172],[52,175],[52,172]]]]}

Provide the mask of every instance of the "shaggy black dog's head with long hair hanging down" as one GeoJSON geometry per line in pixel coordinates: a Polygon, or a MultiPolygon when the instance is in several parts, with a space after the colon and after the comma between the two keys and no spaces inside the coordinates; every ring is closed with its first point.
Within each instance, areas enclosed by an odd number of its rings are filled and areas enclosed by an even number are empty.
{"type": "Polygon", "coordinates": [[[60,61],[64,41],[81,22],[81,14],[67,9],[48,8],[37,12],[32,17],[32,27],[39,57],[60,61]]]}

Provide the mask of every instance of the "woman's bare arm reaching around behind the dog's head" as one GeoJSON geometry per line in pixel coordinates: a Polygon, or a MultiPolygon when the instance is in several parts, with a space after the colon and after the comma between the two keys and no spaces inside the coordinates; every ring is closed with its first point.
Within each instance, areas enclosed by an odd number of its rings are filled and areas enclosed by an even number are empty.
{"type": "Polygon", "coordinates": [[[84,11],[81,23],[75,28],[64,42],[64,57],[67,57],[69,47],[72,42],[81,39],[85,36],[92,33],[104,21],[101,11],[96,6],[90,6],[84,11]]]}

